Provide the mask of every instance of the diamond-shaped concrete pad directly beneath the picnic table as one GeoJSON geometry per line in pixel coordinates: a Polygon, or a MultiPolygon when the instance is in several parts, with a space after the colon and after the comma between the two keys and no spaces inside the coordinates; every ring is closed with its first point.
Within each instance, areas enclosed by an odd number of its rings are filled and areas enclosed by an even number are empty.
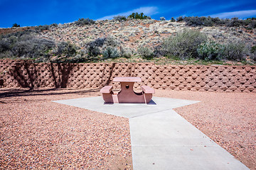
{"type": "Polygon", "coordinates": [[[188,101],[174,98],[159,98],[153,97],[151,102],[146,103],[114,103],[105,104],[102,96],[91,98],[75,98],[70,100],[53,101],[56,103],[66,104],[69,106],[76,106],[78,108],[86,108],[91,111],[117,115],[124,118],[134,118],[139,115],[146,115],[156,113],[159,111],[169,110],[186,106],[199,101],[188,101]]]}

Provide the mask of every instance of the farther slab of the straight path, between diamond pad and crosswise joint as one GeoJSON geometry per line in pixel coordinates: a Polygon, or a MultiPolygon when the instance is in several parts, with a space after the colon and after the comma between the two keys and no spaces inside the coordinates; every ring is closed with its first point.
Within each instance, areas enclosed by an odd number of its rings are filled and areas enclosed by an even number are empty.
{"type": "Polygon", "coordinates": [[[129,120],[132,145],[217,146],[173,110],[129,120]]]}

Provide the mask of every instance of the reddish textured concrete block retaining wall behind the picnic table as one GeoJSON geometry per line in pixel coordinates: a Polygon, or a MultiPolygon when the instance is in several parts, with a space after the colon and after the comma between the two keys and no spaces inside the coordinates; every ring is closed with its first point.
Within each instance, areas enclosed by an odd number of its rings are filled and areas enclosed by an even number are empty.
{"type": "Polygon", "coordinates": [[[256,92],[255,66],[155,65],[154,63],[50,64],[0,60],[5,87],[100,89],[114,77],[141,77],[154,89],[256,92]]]}

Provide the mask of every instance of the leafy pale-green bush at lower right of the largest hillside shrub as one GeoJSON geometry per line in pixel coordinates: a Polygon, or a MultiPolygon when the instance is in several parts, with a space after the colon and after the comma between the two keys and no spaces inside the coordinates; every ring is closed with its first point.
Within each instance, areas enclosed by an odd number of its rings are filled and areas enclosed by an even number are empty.
{"type": "Polygon", "coordinates": [[[198,56],[202,60],[220,60],[223,57],[224,46],[212,40],[202,42],[198,46],[198,56]]]}

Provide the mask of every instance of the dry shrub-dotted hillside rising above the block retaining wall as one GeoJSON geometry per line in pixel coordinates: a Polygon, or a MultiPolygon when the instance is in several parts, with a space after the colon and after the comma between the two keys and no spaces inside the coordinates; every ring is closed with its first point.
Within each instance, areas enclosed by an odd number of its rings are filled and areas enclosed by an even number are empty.
{"type": "Polygon", "coordinates": [[[155,61],[163,57],[165,60],[166,58],[168,60],[177,58],[178,60],[190,60],[191,56],[186,53],[191,51],[185,50],[183,54],[176,55],[174,51],[180,49],[169,45],[174,42],[177,35],[184,36],[181,34],[187,30],[195,30],[195,32],[188,32],[188,37],[183,37],[182,45],[190,43],[188,39],[191,38],[189,37],[191,34],[201,33],[206,37],[198,44],[193,45],[193,47],[197,47],[192,52],[198,52],[199,45],[203,47],[203,50],[206,46],[208,51],[201,52],[201,55],[196,54],[198,56],[195,57],[193,54],[192,58],[233,60],[235,62],[245,60],[249,61],[249,64],[255,63],[256,50],[253,50],[256,45],[255,28],[247,29],[243,26],[192,27],[187,26],[185,22],[151,19],[94,21],[94,23],[83,26],[76,23],[65,23],[26,28],[2,28],[0,29],[2,35],[0,57],[33,58],[38,62],[97,62],[98,60],[112,61],[120,57],[128,62],[129,60],[132,62],[136,62],[136,60],[140,62],[143,60],[155,61]],[[202,46],[203,42],[214,42],[210,44],[213,47],[207,46],[206,43],[202,46]],[[212,52],[214,47],[221,47],[225,50],[230,47],[231,50],[221,53],[222,56],[219,57],[220,50],[212,52]],[[238,53],[238,57],[225,57],[229,53],[238,53]],[[215,57],[212,57],[213,55],[215,57]]]}

